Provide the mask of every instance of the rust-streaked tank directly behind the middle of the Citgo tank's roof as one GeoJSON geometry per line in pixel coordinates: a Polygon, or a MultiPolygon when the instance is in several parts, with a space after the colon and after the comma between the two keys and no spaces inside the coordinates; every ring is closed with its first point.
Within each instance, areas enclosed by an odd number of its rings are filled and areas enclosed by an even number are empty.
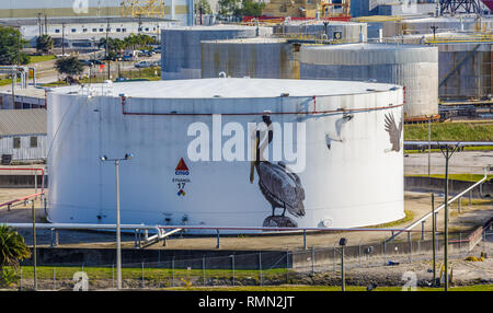
{"type": "Polygon", "coordinates": [[[298,79],[299,45],[280,38],[202,42],[202,77],[298,79]]]}

